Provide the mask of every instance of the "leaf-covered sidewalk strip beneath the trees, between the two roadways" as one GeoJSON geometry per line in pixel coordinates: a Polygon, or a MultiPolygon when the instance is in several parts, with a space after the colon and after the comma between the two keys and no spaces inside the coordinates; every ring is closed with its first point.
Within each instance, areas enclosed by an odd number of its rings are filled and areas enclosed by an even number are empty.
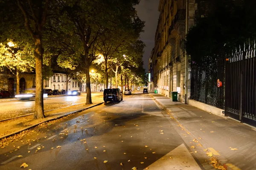
{"type": "Polygon", "coordinates": [[[64,107],[61,109],[54,109],[49,112],[45,112],[44,115],[46,116],[46,118],[44,119],[35,120],[33,119],[33,115],[28,115],[25,117],[19,117],[19,118],[10,119],[7,121],[1,121],[0,122],[0,127],[1,127],[0,139],[7,138],[9,136],[20,133],[24,130],[29,130],[32,127],[38,126],[41,123],[53,121],[76,112],[81,112],[85,109],[95,107],[102,103],[103,103],[102,100],[96,99],[96,100],[93,100],[93,104],[90,104],[90,105],[77,104],[70,107],[64,107]]]}

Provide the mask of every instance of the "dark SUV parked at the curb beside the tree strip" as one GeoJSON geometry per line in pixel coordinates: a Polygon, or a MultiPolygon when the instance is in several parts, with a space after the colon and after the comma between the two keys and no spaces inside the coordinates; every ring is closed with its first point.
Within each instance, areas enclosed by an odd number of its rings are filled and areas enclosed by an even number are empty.
{"type": "Polygon", "coordinates": [[[120,89],[104,89],[103,100],[107,101],[122,101],[122,92],[120,89]]]}

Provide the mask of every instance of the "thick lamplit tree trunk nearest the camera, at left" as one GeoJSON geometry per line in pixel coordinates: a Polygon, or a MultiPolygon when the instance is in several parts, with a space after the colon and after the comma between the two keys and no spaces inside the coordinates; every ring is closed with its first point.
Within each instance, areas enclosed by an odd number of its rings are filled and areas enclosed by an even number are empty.
{"type": "Polygon", "coordinates": [[[44,80],[43,80],[43,54],[44,49],[42,46],[41,35],[36,35],[35,40],[35,113],[34,119],[45,118],[44,115],[44,100],[43,100],[43,90],[44,90],[44,80]]]}

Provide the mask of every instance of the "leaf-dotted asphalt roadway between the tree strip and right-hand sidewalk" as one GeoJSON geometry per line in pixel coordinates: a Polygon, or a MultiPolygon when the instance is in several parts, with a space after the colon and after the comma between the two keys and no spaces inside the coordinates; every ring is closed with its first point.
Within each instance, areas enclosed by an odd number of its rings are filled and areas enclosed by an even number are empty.
{"type": "Polygon", "coordinates": [[[166,111],[140,92],[6,141],[8,146],[0,148],[0,169],[16,170],[26,163],[26,170],[143,170],[186,145],[176,129],[166,111]]]}

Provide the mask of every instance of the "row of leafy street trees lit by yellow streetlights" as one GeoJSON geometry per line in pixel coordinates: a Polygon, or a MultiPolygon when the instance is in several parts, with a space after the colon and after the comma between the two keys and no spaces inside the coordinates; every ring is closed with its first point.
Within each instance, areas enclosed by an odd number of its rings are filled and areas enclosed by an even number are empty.
{"type": "Polygon", "coordinates": [[[108,70],[115,72],[116,86],[118,74],[121,73],[121,77],[125,75],[125,69],[137,76],[144,74],[142,55],[145,44],[138,40],[143,32],[144,22],[137,16],[134,8],[139,2],[140,0],[0,2],[0,61],[5,61],[1,62],[0,67],[7,67],[17,75],[18,72],[35,68],[35,119],[45,117],[43,78],[51,75],[47,65],[52,56],[57,56],[58,65],[66,70],[67,81],[77,72],[84,75],[86,104],[92,104],[89,72],[92,66],[100,65],[100,68],[104,68],[106,87],[108,70]],[[9,42],[13,42],[15,46],[8,46],[9,42]],[[31,49],[34,49],[33,52],[31,49]],[[9,66],[11,63],[6,56],[12,56],[12,61],[17,64],[9,66]],[[97,63],[102,56],[104,61],[97,63]],[[17,58],[20,59],[18,62],[15,61],[17,58]]]}

